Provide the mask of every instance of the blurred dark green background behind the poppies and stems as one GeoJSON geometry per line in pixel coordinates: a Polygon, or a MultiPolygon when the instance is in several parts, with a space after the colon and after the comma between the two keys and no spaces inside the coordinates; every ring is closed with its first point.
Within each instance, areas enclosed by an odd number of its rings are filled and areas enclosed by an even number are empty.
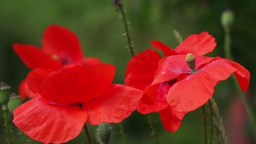
{"type": "MultiPolygon", "coordinates": [[[[127,19],[131,22],[131,38],[136,53],[152,48],[150,40],[160,40],[175,48],[178,42],[173,36],[173,29],[176,29],[183,38],[208,31],[216,37],[217,42],[215,50],[208,56],[224,57],[224,32],[220,16],[226,9],[234,11],[235,24],[231,29],[233,60],[251,72],[247,94],[253,110],[256,111],[256,99],[253,98],[253,85],[256,84],[255,0],[123,0],[123,3],[127,10],[127,19]]],[[[117,69],[114,83],[123,83],[125,67],[131,54],[125,47],[126,37],[121,36],[124,33],[123,20],[115,11],[111,0],[0,0],[0,80],[11,85],[13,92],[18,92],[18,85],[29,69],[13,52],[11,45],[17,42],[41,46],[43,31],[50,24],[59,24],[75,32],[85,56],[95,56],[106,63],[114,64],[117,69]]],[[[242,144],[242,140],[244,144],[255,143],[255,135],[253,136],[243,104],[239,102],[231,79],[216,86],[214,98],[219,104],[230,143],[242,144]],[[234,124],[234,121],[239,122],[234,124]]],[[[203,144],[200,112],[201,109],[197,109],[187,114],[175,133],[165,131],[158,114],[155,113],[161,144],[203,144]]],[[[155,143],[147,121],[147,116],[138,112],[123,121],[129,144],[155,143]]],[[[0,143],[4,144],[6,135],[2,123],[1,117],[0,143]]],[[[15,125],[11,126],[16,133],[15,125]]],[[[112,144],[121,144],[118,124],[112,124],[112,127],[112,144]]],[[[96,126],[90,126],[93,140],[95,128],[96,126]]],[[[16,144],[22,144],[16,134],[13,139],[16,144]]],[[[87,143],[84,132],[68,142],[84,143],[87,143]]]]}

